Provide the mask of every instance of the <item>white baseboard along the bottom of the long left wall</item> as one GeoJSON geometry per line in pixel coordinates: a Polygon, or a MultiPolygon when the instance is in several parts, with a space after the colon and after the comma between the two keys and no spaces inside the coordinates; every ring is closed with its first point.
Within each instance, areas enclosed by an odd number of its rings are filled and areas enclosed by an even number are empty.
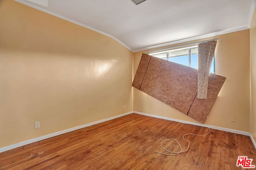
{"type": "Polygon", "coordinates": [[[125,115],[129,115],[131,113],[134,113],[133,111],[130,111],[128,113],[124,113],[124,114],[121,114],[121,115],[117,115],[117,116],[113,116],[113,117],[109,117],[107,119],[103,119],[103,120],[99,120],[99,121],[95,121],[95,122],[92,122],[92,123],[88,123],[88,124],[85,124],[85,125],[81,125],[81,126],[77,126],[77,127],[73,127],[73,128],[70,128],[70,129],[66,129],[66,130],[63,130],[63,131],[58,131],[58,132],[55,132],[55,133],[51,133],[49,135],[44,135],[42,137],[37,137],[37,138],[34,138],[34,139],[30,139],[28,141],[23,141],[23,142],[20,142],[20,143],[16,143],[14,145],[10,145],[10,146],[7,146],[7,147],[3,147],[3,148],[0,148],[0,153],[1,152],[4,152],[4,151],[7,151],[7,150],[11,150],[11,149],[14,149],[14,148],[18,148],[18,147],[21,147],[21,146],[24,146],[24,145],[28,145],[30,143],[34,143],[34,142],[37,142],[37,141],[42,141],[44,139],[48,139],[50,137],[55,137],[55,136],[58,136],[58,135],[62,135],[64,133],[68,133],[68,132],[71,132],[71,131],[76,131],[78,129],[82,129],[84,127],[89,127],[89,126],[92,126],[92,125],[96,125],[98,123],[102,123],[104,121],[109,121],[109,120],[112,120],[112,119],[116,119],[118,117],[122,117],[122,116],[125,116],[125,115]]]}

